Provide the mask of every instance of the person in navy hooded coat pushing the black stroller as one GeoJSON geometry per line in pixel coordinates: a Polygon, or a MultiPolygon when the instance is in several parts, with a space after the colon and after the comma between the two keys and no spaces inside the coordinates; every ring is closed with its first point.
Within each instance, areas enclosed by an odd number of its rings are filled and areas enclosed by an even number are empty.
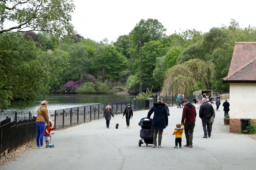
{"type": "Polygon", "coordinates": [[[167,110],[164,102],[159,100],[158,103],[154,103],[154,106],[148,111],[148,119],[150,119],[150,116],[152,115],[153,112],[154,112],[154,117],[152,120],[152,127],[154,130],[153,148],[156,147],[157,133],[158,133],[158,147],[162,148],[164,147],[161,145],[162,134],[164,129],[168,126],[168,116],[167,116],[167,110]]]}

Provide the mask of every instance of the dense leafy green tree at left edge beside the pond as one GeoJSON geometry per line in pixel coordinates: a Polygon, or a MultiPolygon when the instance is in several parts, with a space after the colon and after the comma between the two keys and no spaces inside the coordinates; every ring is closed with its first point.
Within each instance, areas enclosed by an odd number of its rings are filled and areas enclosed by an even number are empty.
{"type": "Polygon", "coordinates": [[[0,109],[12,99],[30,101],[48,93],[53,70],[65,66],[63,55],[38,57],[36,43],[20,33],[0,34],[0,49],[0,109]]]}

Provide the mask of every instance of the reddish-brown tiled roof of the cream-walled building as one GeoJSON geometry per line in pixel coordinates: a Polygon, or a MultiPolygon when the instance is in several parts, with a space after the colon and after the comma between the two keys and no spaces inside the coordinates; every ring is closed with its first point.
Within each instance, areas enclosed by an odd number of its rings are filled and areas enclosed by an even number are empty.
{"type": "Polygon", "coordinates": [[[236,42],[224,82],[256,82],[256,42],[236,42]]]}

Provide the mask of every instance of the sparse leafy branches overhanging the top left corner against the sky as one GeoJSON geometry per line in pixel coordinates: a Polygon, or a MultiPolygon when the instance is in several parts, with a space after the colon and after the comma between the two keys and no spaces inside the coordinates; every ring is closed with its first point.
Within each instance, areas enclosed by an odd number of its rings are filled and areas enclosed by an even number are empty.
{"type": "Polygon", "coordinates": [[[72,0],[4,0],[0,4],[0,34],[3,32],[46,31],[57,37],[74,34],[70,23],[75,6],[72,0]],[[17,25],[8,29],[4,22],[17,25]]]}

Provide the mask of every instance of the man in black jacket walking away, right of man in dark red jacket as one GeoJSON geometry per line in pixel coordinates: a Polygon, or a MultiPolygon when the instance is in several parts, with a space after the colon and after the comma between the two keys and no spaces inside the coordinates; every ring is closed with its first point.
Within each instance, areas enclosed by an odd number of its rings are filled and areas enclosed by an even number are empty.
{"type": "Polygon", "coordinates": [[[211,122],[210,119],[214,113],[214,109],[210,103],[206,102],[206,98],[202,98],[202,105],[199,109],[199,117],[202,119],[203,129],[204,129],[204,137],[207,138],[207,132],[208,137],[211,137],[211,122]],[[207,126],[207,129],[206,129],[207,126]]]}

